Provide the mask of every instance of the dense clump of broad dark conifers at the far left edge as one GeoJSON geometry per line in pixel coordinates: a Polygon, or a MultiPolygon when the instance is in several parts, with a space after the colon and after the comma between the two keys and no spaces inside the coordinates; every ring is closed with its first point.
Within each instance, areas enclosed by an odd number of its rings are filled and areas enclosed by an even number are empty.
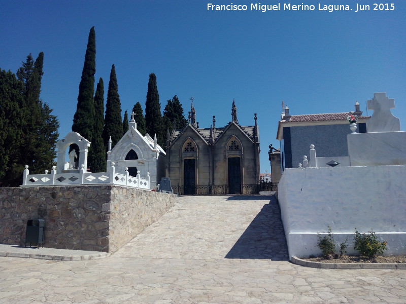
{"type": "Polygon", "coordinates": [[[24,165],[34,173],[49,170],[56,157],[59,123],[51,115],[49,105],[40,99],[43,62],[44,53],[38,55],[35,63],[29,54],[17,71],[18,80],[10,71],[2,71],[0,178],[3,176],[3,185],[21,184],[24,165]]]}

